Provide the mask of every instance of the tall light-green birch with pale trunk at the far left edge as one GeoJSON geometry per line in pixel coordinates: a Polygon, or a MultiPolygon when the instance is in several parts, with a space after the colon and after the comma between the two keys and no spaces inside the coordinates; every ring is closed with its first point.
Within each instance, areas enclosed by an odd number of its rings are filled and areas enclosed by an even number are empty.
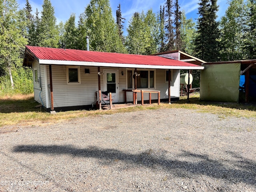
{"type": "Polygon", "coordinates": [[[27,39],[18,27],[18,4],[16,0],[0,0],[0,64],[10,77],[14,89],[12,70],[21,65],[21,55],[27,39]]]}

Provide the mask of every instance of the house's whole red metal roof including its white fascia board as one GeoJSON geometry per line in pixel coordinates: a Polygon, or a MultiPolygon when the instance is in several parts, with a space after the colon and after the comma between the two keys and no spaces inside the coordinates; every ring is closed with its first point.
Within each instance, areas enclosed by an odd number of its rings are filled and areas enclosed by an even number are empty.
{"type": "Polygon", "coordinates": [[[108,66],[155,69],[204,69],[203,66],[163,58],[160,56],[26,46],[23,66],[31,66],[34,59],[38,60],[40,64],[46,65],[108,66]]]}

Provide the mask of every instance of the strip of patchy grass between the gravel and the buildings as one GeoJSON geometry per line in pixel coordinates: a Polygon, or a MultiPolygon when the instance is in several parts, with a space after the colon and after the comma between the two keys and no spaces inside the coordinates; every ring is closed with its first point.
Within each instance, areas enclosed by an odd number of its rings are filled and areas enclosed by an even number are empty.
{"type": "Polygon", "coordinates": [[[161,103],[159,106],[135,106],[114,110],[77,110],[59,112],[56,115],[45,112],[41,108],[35,108],[38,103],[34,101],[33,94],[2,96],[0,98],[0,127],[10,125],[40,125],[63,122],[72,118],[97,116],[102,114],[114,114],[140,110],[157,110],[167,108],[193,109],[197,112],[217,114],[220,118],[227,116],[256,118],[256,106],[237,103],[204,102],[199,100],[199,94],[193,94],[190,100],[181,97],[178,102],[172,104],[161,103]]]}

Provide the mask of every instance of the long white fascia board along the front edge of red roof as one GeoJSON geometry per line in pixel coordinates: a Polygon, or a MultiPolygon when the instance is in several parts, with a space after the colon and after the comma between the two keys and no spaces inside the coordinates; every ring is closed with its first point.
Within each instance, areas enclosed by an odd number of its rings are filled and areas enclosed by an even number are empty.
{"type": "Polygon", "coordinates": [[[97,66],[97,67],[149,68],[149,69],[180,69],[180,70],[203,70],[204,69],[204,66],[163,66],[163,65],[41,60],[41,59],[39,59],[38,62],[39,64],[44,64],[44,65],[74,65],[74,66],[97,66]]]}

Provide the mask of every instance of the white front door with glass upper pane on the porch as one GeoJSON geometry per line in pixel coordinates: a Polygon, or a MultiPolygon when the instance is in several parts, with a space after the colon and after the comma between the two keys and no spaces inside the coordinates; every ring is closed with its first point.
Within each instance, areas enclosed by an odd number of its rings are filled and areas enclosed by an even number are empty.
{"type": "Polygon", "coordinates": [[[111,92],[113,103],[118,103],[118,70],[104,70],[104,91],[111,92]]]}

